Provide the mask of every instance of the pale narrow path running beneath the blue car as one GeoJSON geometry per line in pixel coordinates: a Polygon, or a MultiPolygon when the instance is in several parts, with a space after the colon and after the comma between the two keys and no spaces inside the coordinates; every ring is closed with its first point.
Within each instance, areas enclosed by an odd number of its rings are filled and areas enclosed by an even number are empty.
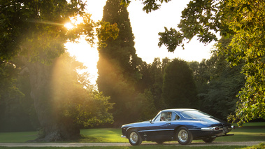
{"type": "MultiPolygon", "coordinates": [[[[213,142],[213,143],[192,143],[189,146],[255,146],[262,141],[251,142],[213,142]]],[[[142,143],[141,146],[152,146],[157,143],[142,143]]],[[[164,146],[182,146],[178,143],[164,143],[164,146]]],[[[81,146],[131,146],[129,143],[0,143],[6,147],[81,147],[81,146]]]]}

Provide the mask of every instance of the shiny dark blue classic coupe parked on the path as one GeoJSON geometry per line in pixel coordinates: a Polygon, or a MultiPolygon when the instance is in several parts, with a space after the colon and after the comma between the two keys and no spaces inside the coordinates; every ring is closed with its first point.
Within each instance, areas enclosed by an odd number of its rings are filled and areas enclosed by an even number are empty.
{"type": "Polygon", "coordinates": [[[213,142],[216,137],[227,134],[234,126],[201,111],[189,108],[176,108],[160,111],[154,119],[122,126],[122,138],[129,139],[132,146],[142,141],[178,141],[187,145],[192,140],[202,139],[213,142]]]}

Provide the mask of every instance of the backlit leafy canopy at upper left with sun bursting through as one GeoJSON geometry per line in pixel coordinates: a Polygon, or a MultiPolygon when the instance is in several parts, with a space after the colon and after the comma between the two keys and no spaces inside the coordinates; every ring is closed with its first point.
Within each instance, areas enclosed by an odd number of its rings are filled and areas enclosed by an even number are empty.
{"type": "Polygon", "coordinates": [[[50,63],[64,52],[67,39],[93,35],[93,22],[86,19],[83,1],[1,1],[1,59],[17,54],[30,62],[50,63]],[[67,30],[70,17],[84,17],[78,27],[67,30]]]}

